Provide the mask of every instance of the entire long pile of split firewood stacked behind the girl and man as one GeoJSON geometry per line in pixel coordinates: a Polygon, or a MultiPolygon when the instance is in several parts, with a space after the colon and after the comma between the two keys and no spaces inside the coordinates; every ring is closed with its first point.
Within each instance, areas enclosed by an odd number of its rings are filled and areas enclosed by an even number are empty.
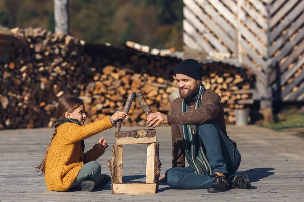
{"type": "MultiPolygon", "coordinates": [[[[87,123],[122,111],[130,91],[141,90],[152,112],[170,113],[169,95],[178,90],[173,57],[127,47],[85,44],[77,38],[41,28],[12,29],[9,61],[0,63],[0,129],[52,127],[58,97],[80,96],[87,123]]],[[[246,69],[222,63],[203,65],[203,84],[217,92],[227,121],[232,109],[251,103],[254,78],[246,69]]],[[[146,126],[138,99],[122,125],[146,126]]]]}

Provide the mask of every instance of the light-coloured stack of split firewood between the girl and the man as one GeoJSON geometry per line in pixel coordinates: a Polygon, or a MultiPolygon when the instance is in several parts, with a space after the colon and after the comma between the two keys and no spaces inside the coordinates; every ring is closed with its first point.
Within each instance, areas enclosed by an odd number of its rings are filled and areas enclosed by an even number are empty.
{"type": "MultiPolygon", "coordinates": [[[[148,74],[135,73],[130,69],[119,69],[114,66],[103,68],[103,74],[94,76],[94,82],[88,84],[86,89],[80,92],[80,97],[86,103],[89,120],[95,121],[115,111],[122,111],[130,91],[141,90],[146,102],[153,112],[170,111],[169,94],[178,87],[171,81],[162,77],[149,76],[148,74]]],[[[146,125],[146,114],[135,99],[132,102],[127,118],[123,125],[146,125]]]]}

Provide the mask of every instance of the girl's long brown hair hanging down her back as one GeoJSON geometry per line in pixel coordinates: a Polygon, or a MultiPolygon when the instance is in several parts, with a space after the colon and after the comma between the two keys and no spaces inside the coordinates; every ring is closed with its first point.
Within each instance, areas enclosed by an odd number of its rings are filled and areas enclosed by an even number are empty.
{"type": "MultiPolygon", "coordinates": [[[[55,123],[55,132],[51,139],[51,143],[57,133],[57,128],[59,126],[58,120],[63,119],[65,117],[66,112],[73,113],[75,111],[75,109],[79,108],[82,105],[83,106],[85,105],[83,100],[81,100],[80,98],[77,98],[75,96],[72,96],[72,95],[64,95],[59,99],[58,107],[57,107],[57,115],[56,115],[57,120],[55,123]]],[[[42,162],[36,167],[37,172],[41,171],[41,174],[45,174],[45,171],[46,171],[46,159],[48,156],[48,151],[51,146],[51,143],[46,150],[46,153],[44,155],[42,162]]]]}

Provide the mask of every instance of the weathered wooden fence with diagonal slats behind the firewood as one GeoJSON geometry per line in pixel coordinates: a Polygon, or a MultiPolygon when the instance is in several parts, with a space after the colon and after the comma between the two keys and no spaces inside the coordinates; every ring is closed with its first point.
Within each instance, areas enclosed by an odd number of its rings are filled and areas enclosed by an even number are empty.
{"type": "Polygon", "coordinates": [[[256,100],[304,100],[304,0],[183,2],[187,48],[238,58],[257,75],[256,100]]]}

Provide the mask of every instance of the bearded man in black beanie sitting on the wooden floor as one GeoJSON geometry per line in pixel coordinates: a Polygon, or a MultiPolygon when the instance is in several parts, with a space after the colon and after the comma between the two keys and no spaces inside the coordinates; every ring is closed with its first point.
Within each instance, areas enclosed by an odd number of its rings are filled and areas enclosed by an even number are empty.
{"type": "Polygon", "coordinates": [[[227,136],[220,97],[201,83],[200,63],[184,60],[176,66],[174,76],[180,97],[171,103],[171,115],[156,112],[147,117],[149,126],[171,124],[173,168],[167,170],[164,180],[175,189],[249,189],[247,174],[232,176],[241,155],[227,136]],[[185,167],[185,158],[189,167],[185,167]]]}

